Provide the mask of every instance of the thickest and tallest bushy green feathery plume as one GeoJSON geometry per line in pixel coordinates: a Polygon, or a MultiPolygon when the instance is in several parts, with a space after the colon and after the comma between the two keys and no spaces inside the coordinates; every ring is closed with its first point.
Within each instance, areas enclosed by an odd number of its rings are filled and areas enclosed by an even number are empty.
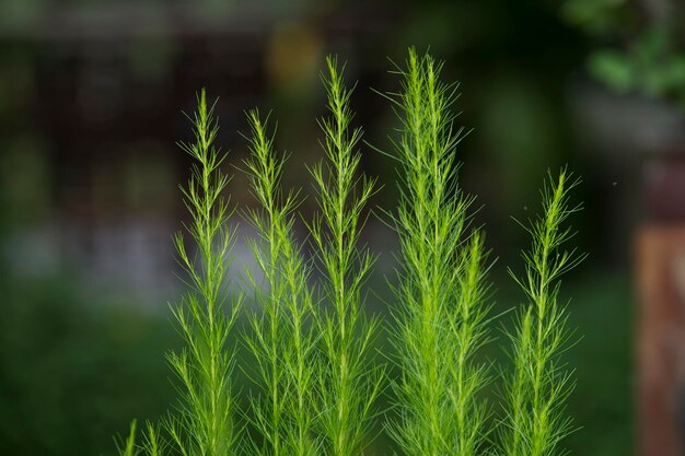
{"type": "Polygon", "coordinates": [[[474,361],[487,341],[487,255],[478,231],[467,235],[473,198],[456,183],[451,108],[456,85],[440,82],[442,65],[409,50],[397,68],[402,93],[387,95],[402,121],[394,144],[402,165],[398,213],[391,215],[400,242],[395,343],[402,378],[399,420],[390,430],[406,455],[474,455],[488,432],[477,398],[487,384],[474,361]]]}

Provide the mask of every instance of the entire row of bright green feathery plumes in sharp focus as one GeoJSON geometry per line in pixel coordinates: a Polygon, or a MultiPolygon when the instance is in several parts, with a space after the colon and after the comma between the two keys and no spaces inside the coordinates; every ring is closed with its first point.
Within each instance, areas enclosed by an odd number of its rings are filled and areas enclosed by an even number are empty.
{"type": "MultiPolygon", "coordinates": [[[[324,160],[310,168],[318,211],[304,221],[307,239],[294,235],[300,192],[282,188],[287,157],[275,150],[275,129],[258,110],[247,113],[247,174],[256,208],[242,212],[255,230],[248,241],[254,271],[243,285],[227,277],[235,230],[223,197],[227,156],[214,147],[217,121],[205,91],[191,121],[195,141],[181,147],[195,159],[183,189],[190,213],[187,234],[175,245],[189,292],[172,306],[185,348],[169,355],[177,376],[177,407],[159,425],[148,423],[136,443],[136,422],[119,445],[123,456],[358,456],[382,422],[407,456],[548,456],[573,430],[564,405],[573,388],[561,360],[574,338],[558,303],[559,278],[582,260],[564,250],[566,225],[577,207],[577,184],[565,169],[549,176],[541,215],[526,227],[524,273],[511,273],[526,303],[516,312],[511,369],[495,382],[481,349],[492,340],[494,319],[483,230],[472,223],[474,197],[458,184],[455,126],[457,86],[441,81],[442,63],[410,49],[395,67],[398,93],[392,104],[399,136],[387,152],[398,163],[396,210],[381,210],[399,239],[394,287],[394,353],[373,352],[382,321],[364,311],[367,279],[375,257],[361,242],[368,203],[378,187],[360,171],[362,131],[352,127],[351,89],[345,67],[327,59],[323,77],[328,113],[320,119],[324,160]],[[313,252],[313,255],[309,250],[313,252]],[[251,306],[243,306],[243,301],[251,306]],[[247,307],[243,309],[243,307],[247,307]],[[231,331],[240,314],[248,323],[242,349],[252,363],[251,387],[239,407],[233,385],[237,352],[231,331]],[[490,404],[486,387],[501,391],[490,404]],[[387,388],[386,388],[387,386],[387,388]],[[378,410],[387,391],[393,407],[378,410]]],[[[251,364],[251,365],[248,365],[251,364]]]]}

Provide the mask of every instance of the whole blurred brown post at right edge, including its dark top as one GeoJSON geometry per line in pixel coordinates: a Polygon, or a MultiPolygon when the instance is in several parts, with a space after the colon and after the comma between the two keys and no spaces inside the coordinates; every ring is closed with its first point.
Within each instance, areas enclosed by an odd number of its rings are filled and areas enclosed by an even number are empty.
{"type": "Polygon", "coordinates": [[[685,434],[685,154],[646,166],[637,235],[639,456],[682,456],[685,434]]]}

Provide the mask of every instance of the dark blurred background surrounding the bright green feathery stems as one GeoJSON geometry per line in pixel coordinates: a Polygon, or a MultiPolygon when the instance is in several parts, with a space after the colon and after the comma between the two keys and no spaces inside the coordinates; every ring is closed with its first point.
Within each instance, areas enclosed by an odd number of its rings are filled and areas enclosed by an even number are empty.
{"type": "MultiPolygon", "coordinates": [[[[188,174],[175,141],[189,139],[196,91],[219,97],[235,164],[244,110],[272,110],[286,185],[309,191],[326,54],[359,81],[365,140],[388,149],[397,122],[371,89],[397,90],[388,58],[409,45],[461,81],[461,177],[499,257],[498,307],[522,300],[506,265],[521,270],[527,238],[510,217],[535,213],[548,168],[583,179],[574,223],[590,259],[564,287],[583,336],[568,354],[582,426],[568,446],[684,454],[683,24],[680,0],[0,2],[0,454],[112,455],[131,418],[173,404],[171,236],[188,174]]],[[[374,204],[392,207],[393,164],[364,147],[363,167],[385,185],[374,204]]],[[[237,174],[233,201],[251,204],[237,174]]],[[[395,243],[378,221],[365,235],[383,295],[395,243]]],[[[236,254],[248,260],[242,243],[236,254]]],[[[370,448],[390,452],[383,436],[370,448]]]]}

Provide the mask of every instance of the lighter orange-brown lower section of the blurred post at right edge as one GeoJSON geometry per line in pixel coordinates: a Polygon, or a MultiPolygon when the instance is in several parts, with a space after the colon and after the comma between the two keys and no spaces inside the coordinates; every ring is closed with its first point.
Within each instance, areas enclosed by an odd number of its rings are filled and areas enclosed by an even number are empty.
{"type": "Polygon", "coordinates": [[[685,435],[685,230],[650,225],[638,244],[641,455],[682,455],[685,435]]]}

